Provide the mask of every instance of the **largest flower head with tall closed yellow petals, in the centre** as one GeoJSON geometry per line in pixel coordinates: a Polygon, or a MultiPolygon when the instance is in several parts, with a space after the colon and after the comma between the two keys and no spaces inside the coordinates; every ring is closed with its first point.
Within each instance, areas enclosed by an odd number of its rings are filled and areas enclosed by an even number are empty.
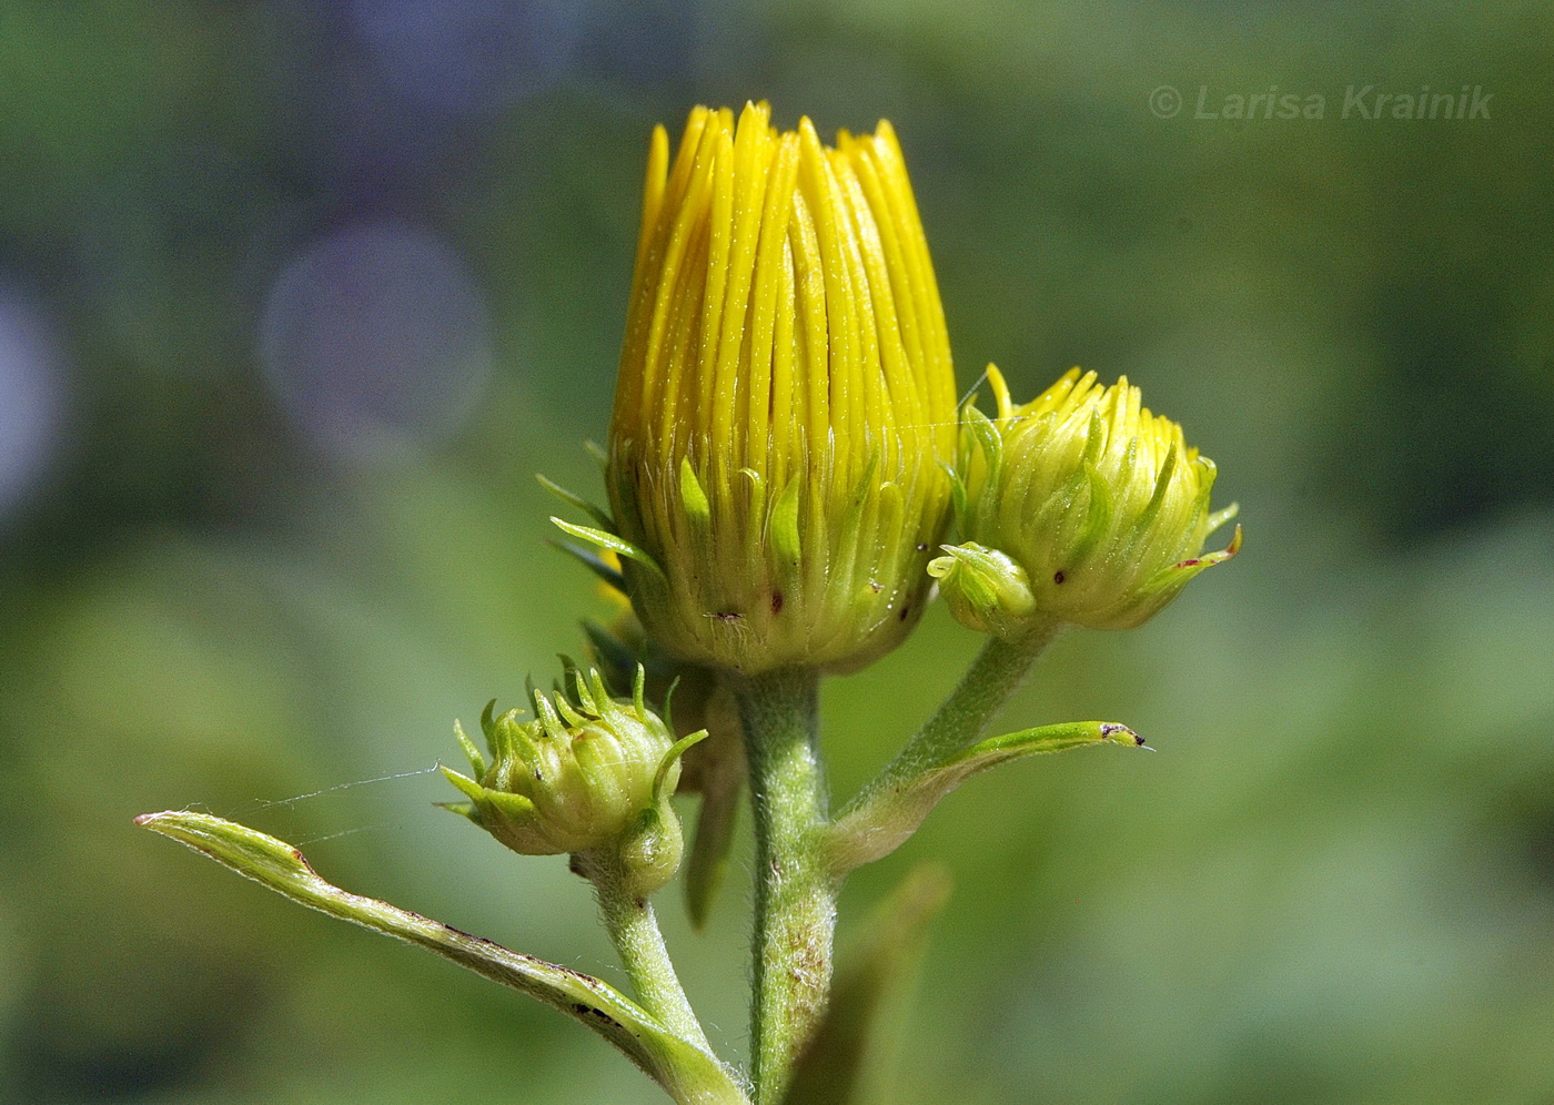
{"type": "Polygon", "coordinates": [[[856,668],[925,601],[954,375],[889,123],[827,148],[766,104],[654,131],[608,483],[648,634],[681,661],[856,668]]]}

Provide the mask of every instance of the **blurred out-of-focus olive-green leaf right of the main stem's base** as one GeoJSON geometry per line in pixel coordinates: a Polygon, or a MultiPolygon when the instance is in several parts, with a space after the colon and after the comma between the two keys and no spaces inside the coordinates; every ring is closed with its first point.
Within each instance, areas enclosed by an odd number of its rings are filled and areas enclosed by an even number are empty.
{"type": "Polygon", "coordinates": [[[794,1065],[783,1105],[858,1105],[880,1066],[881,1037],[892,1006],[904,998],[922,959],[928,923],[949,900],[949,875],[923,864],[875,911],[862,939],[844,959],[831,1002],[794,1065]]]}

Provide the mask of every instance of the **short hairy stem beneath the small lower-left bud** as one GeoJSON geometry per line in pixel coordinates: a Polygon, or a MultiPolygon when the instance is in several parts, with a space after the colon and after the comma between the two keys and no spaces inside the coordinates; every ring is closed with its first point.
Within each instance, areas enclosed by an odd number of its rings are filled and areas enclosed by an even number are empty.
{"type": "Polygon", "coordinates": [[[710,1052],[712,1044],[707,1043],[701,1021],[674,973],[668,948],[664,946],[653,903],[626,889],[625,872],[614,855],[578,855],[573,866],[594,883],[600,917],[605,919],[605,929],[637,992],[637,1002],[681,1040],[710,1052]]]}

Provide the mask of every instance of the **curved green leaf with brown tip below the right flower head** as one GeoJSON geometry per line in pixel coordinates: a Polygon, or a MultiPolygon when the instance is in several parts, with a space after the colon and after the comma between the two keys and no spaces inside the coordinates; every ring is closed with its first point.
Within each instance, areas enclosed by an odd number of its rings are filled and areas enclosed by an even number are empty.
{"type": "Polygon", "coordinates": [[[979,771],[1027,755],[1106,743],[1147,748],[1142,737],[1114,721],[1068,721],[988,737],[951,752],[842,814],[827,830],[831,870],[841,877],[895,852],[942,797],[979,771]]]}

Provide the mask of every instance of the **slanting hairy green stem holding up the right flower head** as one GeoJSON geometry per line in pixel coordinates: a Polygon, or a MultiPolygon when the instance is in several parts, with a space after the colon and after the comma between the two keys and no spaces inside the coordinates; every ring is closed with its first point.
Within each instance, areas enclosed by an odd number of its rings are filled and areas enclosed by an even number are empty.
{"type": "Polygon", "coordinates": [[[847,803],[842,816],[900,790],[945,757],[982,737],[993,715],[1026,681],[1037,657],[1046,651],[1061,628],[1060,622],[1052,622],[1016,642],[988,637],[960,682],[949,692],[949,698],[908,746],[847,803]]]}

